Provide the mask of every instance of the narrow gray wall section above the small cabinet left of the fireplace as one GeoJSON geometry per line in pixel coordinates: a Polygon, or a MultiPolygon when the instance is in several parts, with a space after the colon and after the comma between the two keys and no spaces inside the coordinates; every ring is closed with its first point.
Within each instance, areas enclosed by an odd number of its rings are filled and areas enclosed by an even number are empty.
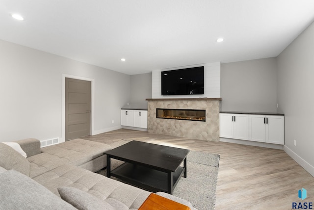
{"type": "Polygon", "coordinates": [[[146,107],[146,99],[152,98],[152,73],[131,75],[130,105],[146,107]]]}

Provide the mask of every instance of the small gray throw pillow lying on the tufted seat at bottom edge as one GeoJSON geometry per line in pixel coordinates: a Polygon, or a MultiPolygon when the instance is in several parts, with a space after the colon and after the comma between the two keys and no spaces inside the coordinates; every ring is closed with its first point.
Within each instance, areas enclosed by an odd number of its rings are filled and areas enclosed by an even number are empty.
{"type": "Polygon", "coordinates": [[[58,192],[63,200],[72,204],[78,210],[114,210],[104,200],[75,187],[59,187],[58,192]]]}

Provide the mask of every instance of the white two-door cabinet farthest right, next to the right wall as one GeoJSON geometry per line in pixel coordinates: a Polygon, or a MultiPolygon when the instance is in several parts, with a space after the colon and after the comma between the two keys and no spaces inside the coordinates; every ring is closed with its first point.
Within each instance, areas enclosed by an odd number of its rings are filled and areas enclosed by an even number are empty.
{"type": "Polygon", "coordinates": [[[250,141],[284,144],[284,116],[250,115],[250,141]]]}

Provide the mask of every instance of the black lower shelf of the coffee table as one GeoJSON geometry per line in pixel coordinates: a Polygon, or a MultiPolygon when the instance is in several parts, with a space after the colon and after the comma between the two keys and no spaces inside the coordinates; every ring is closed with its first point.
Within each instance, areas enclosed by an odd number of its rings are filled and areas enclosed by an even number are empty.
{"type": "Polygon", "coordinates": [[[172,190],[179,182],[184,170],[185,168],[180,166],[175,172],[169,172],[172,174],[172,187],[168,185],[169,179],[167,172],[128,162],[113,169],[110,175],[151,192],[163,191],[172,194],[172,190]]]}

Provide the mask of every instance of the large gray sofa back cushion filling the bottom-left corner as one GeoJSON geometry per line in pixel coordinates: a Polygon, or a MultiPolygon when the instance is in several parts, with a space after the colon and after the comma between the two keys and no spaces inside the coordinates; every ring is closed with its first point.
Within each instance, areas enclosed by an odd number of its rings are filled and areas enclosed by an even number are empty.
{"type": "Polygon", "coordinates": [[[14,170],[0,173],[0,189],[0,209],[3,210],[75,210],[42,185],[14,170]]]}

